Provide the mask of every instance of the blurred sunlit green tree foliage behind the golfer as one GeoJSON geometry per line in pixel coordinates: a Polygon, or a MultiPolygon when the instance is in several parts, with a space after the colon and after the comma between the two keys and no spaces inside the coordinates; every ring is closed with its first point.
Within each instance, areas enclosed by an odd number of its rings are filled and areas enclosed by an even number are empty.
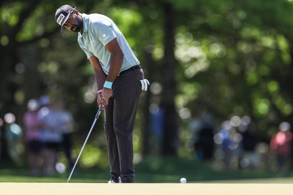
{"type": "MultiPolygon", "coordinates": [[[[13,112],[21,123],[27,101],[50,94],[65,100],[76,119],[77,148],[83,142],[97,110],[95,79],[77,34],[61,34],[54,20],[56,9],[69,4],[81,13],[113,19],[146,78],[163,89],[148,90],[141,98],[134,135],[137,157],[153,152],[149,110],[154,106],[165,110],[161,154],[177,154],[179,138],[190,139],[188,122],[204,112],[216,122],[249,115],[258,135],[267,139],[280,122],[292,121],[292,3],[2,0],[0,117],[13,112]]],[[[89,152],[107,155],[103,136],[99,122],[90,138],[98,149],[89,152]]],[[[3,136],[1,143],[3,153],[3,136]]]]}

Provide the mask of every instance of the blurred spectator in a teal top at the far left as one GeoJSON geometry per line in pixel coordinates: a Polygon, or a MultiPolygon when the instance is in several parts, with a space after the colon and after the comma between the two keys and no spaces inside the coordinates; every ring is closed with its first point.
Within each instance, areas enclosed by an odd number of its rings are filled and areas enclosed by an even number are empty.
{"type": "Polygon", "coordinates": [[[23,132],[20,126],[15,123],[15,115],[7,113],[4,115],[5,137],[8,145],[8,154],[13,161],[21,160],[21,154],[24,152],[22,144],[23,132]]]}

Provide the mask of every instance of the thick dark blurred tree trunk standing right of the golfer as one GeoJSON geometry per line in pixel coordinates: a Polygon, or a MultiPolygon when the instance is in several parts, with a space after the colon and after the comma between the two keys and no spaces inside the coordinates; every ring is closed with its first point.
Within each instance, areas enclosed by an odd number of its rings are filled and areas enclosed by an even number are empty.
{"type": "Polygon", "coordinates": [[[174,56],[175,47],[175,11],[170,3],[164,3],[164,46],[165,55],[162,60],[162,79],[164,91],[160,107],[165,111],[162,154],[177,155],[178,124],[175,111],[176,80],[175,69],[177,61],[174,56]]]}

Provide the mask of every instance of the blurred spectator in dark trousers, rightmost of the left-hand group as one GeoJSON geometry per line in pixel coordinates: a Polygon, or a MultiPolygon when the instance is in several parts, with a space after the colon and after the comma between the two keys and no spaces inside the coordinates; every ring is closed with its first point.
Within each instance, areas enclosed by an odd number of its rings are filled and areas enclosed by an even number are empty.
{"type": "Polygon", "coordinates": [[[71,133],[74,120],[71,113],[65,109],[63,101],[58,101],[57,106],[59,109],[58,118],[60,120],[59,129],[62,133],[62,148],[68,160],[69,167],[73,167],[74,164],[71,158],[71,133]]]}

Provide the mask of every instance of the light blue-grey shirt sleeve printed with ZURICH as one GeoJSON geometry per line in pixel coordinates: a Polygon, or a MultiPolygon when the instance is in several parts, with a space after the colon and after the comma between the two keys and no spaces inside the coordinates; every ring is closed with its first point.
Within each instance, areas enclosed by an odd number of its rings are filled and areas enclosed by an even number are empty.
{"type": "Polygon", "coordinates": [[[112,30],[112,25],[109,20],[104,18],[96,18],[92,21],[92,25],[94,34],[104,46],[116,38],[116,34],[112,30]]]}

